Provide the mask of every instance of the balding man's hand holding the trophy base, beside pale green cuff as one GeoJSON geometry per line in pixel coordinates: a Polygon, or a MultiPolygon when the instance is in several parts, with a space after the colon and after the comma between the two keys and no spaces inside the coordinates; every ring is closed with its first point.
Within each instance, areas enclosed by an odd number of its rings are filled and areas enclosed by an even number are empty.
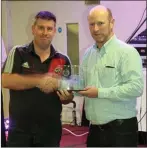
{"type": "Polygon", "coordinates": [[[97,98],[98,97],[98,88],[93,87],[93,86],[88,86],[84,88],[83,91],[78,92],[80,95],[83,95],[85,97],[89,98],[97,98]]]}

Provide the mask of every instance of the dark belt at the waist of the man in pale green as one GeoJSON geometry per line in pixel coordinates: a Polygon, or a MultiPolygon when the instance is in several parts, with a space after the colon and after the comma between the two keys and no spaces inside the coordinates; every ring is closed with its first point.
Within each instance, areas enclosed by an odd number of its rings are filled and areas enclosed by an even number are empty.
{"type": "Polygon", "coordinates": [[[136,120],[136,117],[129,118],[129,119],[116,119],[116,120],[110,121],[106,124],[95,124],[95,122],[91,122],[91,126],[99,127],[101,130],[106,130],[106,129],[111,128],[112,126],[119,126],[126,121],[133,121],[133,120],[136,120]]]}

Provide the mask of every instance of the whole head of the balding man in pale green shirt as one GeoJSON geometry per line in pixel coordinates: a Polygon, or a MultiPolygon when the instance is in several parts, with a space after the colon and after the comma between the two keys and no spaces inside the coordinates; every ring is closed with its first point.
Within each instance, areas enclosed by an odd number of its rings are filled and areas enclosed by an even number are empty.
{"type": "Polygon", "coordinates": [[[113,33],[114,19],[111,10],[98,5],[92,8],[88,15],[89,29],[98,47],[102,47],[113,33]]]}

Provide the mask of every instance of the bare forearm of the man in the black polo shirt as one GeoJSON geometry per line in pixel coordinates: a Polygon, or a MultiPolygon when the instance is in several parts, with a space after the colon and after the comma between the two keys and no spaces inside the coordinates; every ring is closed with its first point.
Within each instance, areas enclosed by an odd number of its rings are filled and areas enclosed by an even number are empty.
{"type": "Polygon", "coordinates": [[[13,90],[25,90],[34,88],[40,82],[43,75],[20,75],[20,74],[2,74],[2,87],[13,90]]]}

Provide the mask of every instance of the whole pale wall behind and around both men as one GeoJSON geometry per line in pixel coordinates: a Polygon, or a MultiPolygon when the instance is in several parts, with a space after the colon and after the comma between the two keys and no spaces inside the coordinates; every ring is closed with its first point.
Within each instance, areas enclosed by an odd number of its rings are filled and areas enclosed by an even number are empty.
{"type": "MultiPolygon", "coordinates": [[[[101,1],[101,4],[112,10],[115,33],[124,41],[138,25],[146,7],[146,1],[101,1]]],[[[2,1],[2,36],[6,48],[9,50],[14,45],[31,41],[31,23],[34,15],[40,10],[48,10],[57,16],[57,28],[63,29],[62,33],[57,32],[53,40],[59,51],[67,52],[66,23],[79,23],[81,60],[85,49],[93,43],[87,24],[87,14],[93,6],[85,5],[84,1],[2,1]]],[[[146,24],[137,34],[145,28],[146,24]]],[[[82,101],[77,103],[82,105],[82,101]]]]}

